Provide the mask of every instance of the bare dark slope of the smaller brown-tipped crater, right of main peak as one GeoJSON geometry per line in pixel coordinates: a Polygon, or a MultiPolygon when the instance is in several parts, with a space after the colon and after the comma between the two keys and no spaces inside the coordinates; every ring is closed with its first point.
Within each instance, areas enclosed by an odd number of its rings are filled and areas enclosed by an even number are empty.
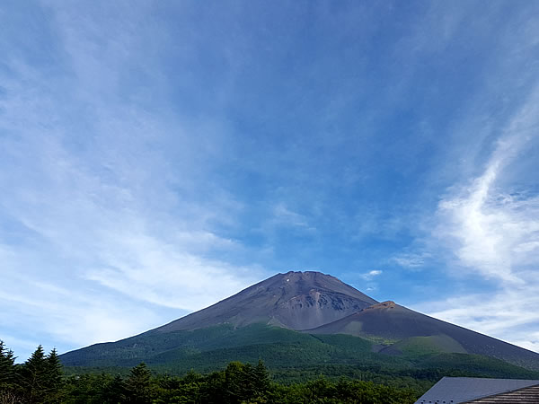
{"type": "Polygon", "coordinates": [[[361,312],[315,329],[312,334],[349,334],[385,339],[393,343],[380,352],[399,355],[422,346],[440,352],[467,353],[496,357],[519,366],[539,369],[539,354],[414,312],[394,302],[376,303],[361,312]]]}

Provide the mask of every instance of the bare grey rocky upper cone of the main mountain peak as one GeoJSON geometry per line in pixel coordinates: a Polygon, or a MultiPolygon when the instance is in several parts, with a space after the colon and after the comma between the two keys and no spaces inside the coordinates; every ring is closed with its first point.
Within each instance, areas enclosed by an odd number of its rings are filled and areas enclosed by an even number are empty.
{"type": "Polygon", "coordinates": [[[202,329],[225,323],[234,327],[265,323],[287,329],[312,329],[376,303],[336,277],[320,272],[290,271],[155,331],[202,329]]]}

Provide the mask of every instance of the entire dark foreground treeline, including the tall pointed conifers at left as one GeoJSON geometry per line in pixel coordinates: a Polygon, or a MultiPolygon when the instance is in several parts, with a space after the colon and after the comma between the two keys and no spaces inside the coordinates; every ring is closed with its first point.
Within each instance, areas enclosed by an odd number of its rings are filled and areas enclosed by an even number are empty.
{"type": "Polygon", "coordinates": [[[154,375],[146,364],[125,377],[110,373],[66,376],[56,350],[42,347],[15,364],[0,341],[0,404],[18,403],[413,403],[410,389],[323,377],[291,385],[272,382],[266,366],[232,362],[208,374],[154,375]]]}

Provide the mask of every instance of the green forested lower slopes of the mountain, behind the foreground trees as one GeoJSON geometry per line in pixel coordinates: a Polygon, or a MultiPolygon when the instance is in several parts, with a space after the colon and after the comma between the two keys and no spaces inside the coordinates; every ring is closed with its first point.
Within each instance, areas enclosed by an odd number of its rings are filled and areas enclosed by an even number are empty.
{"type": "Polygon", "coordinates": [[[444,375],[539,378],[537,372],[493,357],[458,353],[460,348],[447,338],[410,338],[394,346],[392,342],[342,334],[313,335],[262,324],[238,329],[221,325],[193,331],[150,331],[60,358],[70,374],[125,374],[144,361],[155,373],[172,375],[191,370],[210,373],[232,361],[256,364],[261,359],[273,380],[285,384],[323,374],[329,380],[347,376],[418,392],[444,375]]]}

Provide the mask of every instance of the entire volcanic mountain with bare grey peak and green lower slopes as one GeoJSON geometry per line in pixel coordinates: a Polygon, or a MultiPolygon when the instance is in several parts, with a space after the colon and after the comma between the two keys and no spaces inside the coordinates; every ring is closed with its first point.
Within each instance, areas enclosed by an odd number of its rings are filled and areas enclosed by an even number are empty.
{"type": "Polygon", "coordinates": [[[476,375],[492,377],[529,376],[517,366],[539,370],[539,354],[393,302],[378,303],[336,277],[293,271],[157,329],[60,356],[67,366],[121,367],[145,361],[167,372],[259,358],[283,368],[465,365],[476,375]],[[495,373],[500,369],[505,373],[495,373]]]}

